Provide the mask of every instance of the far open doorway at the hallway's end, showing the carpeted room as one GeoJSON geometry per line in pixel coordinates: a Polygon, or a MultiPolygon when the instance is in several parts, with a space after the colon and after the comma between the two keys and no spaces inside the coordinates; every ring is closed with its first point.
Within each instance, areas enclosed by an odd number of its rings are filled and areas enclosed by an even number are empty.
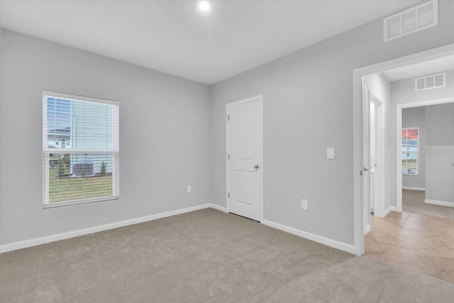
{"type": "Polygon", "coordinates": [[[454,89],[452,97],[397,104],[396,114],[397,209],[454,219],[454,89]]]}

